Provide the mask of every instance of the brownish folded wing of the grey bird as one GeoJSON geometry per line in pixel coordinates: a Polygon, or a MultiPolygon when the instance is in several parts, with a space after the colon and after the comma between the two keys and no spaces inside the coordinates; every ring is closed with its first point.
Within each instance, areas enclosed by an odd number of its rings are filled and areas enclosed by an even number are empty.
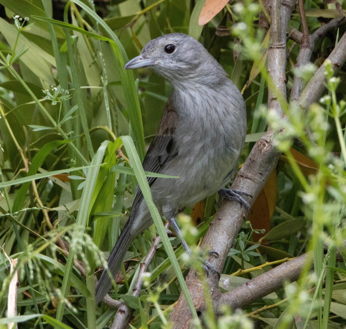
{"type": "MultiPolygon", "coordinates": [[[[169,99],[166,103],[160,125],[158,126],[155,138],[151,142],[147,154],[143,161],[145,171],[160,173],[162,166],[171,161],[177,154],[173,133],[178,122],[172,101],[169,99]]],[[[154,183],[156,177],[147,178],[149,186],[154,183]]],[[[136,190],[135,199],[132,208],[135,209],[142,200],[143,194],[139,186],[136,190]]]]}

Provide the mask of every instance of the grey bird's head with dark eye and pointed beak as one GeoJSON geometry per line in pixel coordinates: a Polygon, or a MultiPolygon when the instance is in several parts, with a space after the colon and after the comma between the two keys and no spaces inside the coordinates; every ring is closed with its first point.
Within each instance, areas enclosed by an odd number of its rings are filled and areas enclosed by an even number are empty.
{"type": "Polygon", "coordinates": [[[149,67],[174,87],[191,83],[214,84],[227,77],[222,66],[194,38],[172,33],[149,41],[125,69],[149,67]]]}

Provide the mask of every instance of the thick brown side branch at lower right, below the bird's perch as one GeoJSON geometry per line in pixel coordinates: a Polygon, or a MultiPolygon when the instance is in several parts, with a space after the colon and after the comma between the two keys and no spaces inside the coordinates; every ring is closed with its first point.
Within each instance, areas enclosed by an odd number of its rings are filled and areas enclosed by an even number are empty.
{"type": "Polygon", "coordinates": [[[282,288],[285,282],[293,282],[299,278],[306,259],[307,255],[303,254],[222,294],[218,305],[227,304],[235,310],[282,288]]]}

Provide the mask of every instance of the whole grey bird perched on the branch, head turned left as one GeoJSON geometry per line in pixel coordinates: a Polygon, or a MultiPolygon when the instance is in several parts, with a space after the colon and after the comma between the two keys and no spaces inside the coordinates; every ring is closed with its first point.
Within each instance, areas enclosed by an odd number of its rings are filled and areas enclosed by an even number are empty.
{"type": "MultiPolygon", "coordinates": [[[[244,146],[245,102],[222,66],[201,43],[186,34],[166,34],[148,42],[124,68],[140,67],[151,68],[173,87],[143,168],[180,177],[149,177],[148,183],[157,209],[170,221],[190,253],[174,218],[179,209],[193,206],[217,191],[220,197],[238,200],[249,208],[241,196],[248,194],[224,188],[234,176],[244,146]]],[[[132,241],[152,224],[137,187],[130,217],[108,259],[113,277],[132,241]]],[[[111,285],[108,271],[104,270],[96,287],[97,303],[111,285]]]]}

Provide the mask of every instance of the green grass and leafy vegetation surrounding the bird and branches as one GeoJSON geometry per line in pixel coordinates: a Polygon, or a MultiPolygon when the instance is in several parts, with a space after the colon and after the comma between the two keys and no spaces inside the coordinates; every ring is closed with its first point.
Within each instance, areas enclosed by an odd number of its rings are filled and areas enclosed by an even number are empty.
{"type": "MultiPolygon", "coordinates": [[[[188,267],[177,239],[163,234],[140,165],[171,86],[147,69],[122,68],[148,41],[172,32],[202,42],[243,90],[248,136],[240,164],[268,122],[280,131],[273,141],[283,155],[256,202],[251,201],[251,223],[244,223],[228,253],[220,288],[234,289],[310,251],[298,282],[251,301],[242,312],[222,309],[218,319],[206,293],[207,312],[193,316],[200,315],[205,328],[346,326],[345,68],[338,67],[334,77],[334,63],[325,65],[324,98],[302,110],[294,102],[300,93],[288,102],[275,94],[275,81],[273,86],[267,74],[274,1],[214,1],[209,8],[216,16],[200,18],[205,2],[0,0],[1,328],[11,321],[19,328],[41,329],[125,328],[128,322],[131,328],[171,326],[169,314],[181,291],[187,293],[188,267]],[[267,103],[268,85],[286,119],[267,110],[273,99],[269,95],[267,103]],[[111,294],[125,303],[121,315],[111,302],[95,305],[94,272],[105,265],[104,254],[128,218],[137,181],[162,242],[155,240],[155,252],[152,226],[128,251],[111,294]],[[147,254],[151,262],[144,270],[150,274],[143,279],[139,263],[147,254]],[[8,257],[18,258],[17,318],[6,313],[13,277],[8,257]]],[[[346,27],[343,1],[307,0],[303,5],[310,34],[331,19],[338,22],[316,37],[314,64],[297,68],[304,19],[302,10],[292,8],[281,77],[288,95],[295,77],[302,87],[307,84],[346,27]]],[[[211,196],[180,216],[190,244],[206,234],[217,199],[211,196]]]]}

